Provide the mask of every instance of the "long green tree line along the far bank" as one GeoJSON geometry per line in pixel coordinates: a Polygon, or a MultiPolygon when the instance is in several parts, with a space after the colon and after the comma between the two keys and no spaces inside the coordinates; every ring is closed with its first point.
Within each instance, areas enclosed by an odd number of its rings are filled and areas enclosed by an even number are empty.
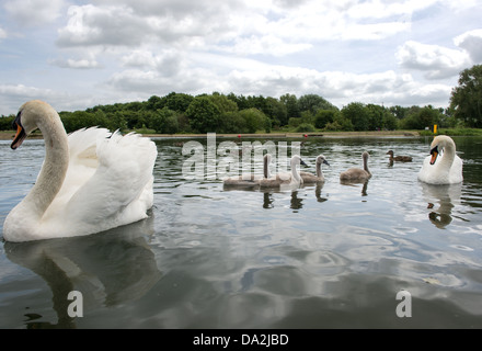
{"type": "MultiPolygon", "coordinates": [[[[171,92],[147,101],[96,105],[59,112],[67,133],[100,126],[123,132],[150,129],[159,134],[256,133],[272,131],[377,131],[439,127],[482,127],[482,65],[460,73],[450,106],[383,106],[352,102],[336,107],[317,94],[284,94],[279,99],[234,93],[191,95],[171,92]]],[[[12,129],[14,115],[0,118],[0,131],[12,129]]]]}

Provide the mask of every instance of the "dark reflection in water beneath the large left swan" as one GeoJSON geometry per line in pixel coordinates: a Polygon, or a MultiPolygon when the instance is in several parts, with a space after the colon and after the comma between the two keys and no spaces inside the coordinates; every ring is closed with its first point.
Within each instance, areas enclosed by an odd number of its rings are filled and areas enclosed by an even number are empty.
{"type": "Polygon", "coordinates": [[[91,236],[25,242],[5,242],[8,259],[38,274],[50,287],[57,324],[25,315],[27,328],[76,328],[68,315],[68,294],[82,294],[83,315],[138,299],[161,279],[154,254],[146,241],[152,234],[148,219],[91,236]]]}

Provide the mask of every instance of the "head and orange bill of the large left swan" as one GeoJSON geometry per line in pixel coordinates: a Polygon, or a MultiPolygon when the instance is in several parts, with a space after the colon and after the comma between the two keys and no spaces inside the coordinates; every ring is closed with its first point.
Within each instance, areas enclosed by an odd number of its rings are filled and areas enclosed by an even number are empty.
{"type": "Polygon", "coordinates": [[[38,128],[38,123],[45,116],[53,115],[53,112],[57,112],[46,102],[39,100],[32,100],[25,102],[19,110],[15,120],[13,120],[13,128],[16,129],[15,137],[13,138],[10,147],[16,149],[25,138],[38,128]]]}

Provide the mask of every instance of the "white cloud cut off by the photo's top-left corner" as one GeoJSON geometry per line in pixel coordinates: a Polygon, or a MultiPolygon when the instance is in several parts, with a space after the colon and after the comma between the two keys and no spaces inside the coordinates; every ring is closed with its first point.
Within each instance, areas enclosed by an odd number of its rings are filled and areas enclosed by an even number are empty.
{"type": "Polygon", "coordinates": [[[23,26],[51,23],[61,15],[64,0],[10,0],[3,4],[5,11],[23,26]]]}

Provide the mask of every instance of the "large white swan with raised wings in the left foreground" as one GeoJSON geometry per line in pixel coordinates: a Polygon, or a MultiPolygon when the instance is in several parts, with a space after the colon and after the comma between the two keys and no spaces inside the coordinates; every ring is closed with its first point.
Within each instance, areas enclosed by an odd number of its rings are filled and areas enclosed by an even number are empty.
{"type": "Polygon", "coordinates": [[[45,160],[35,185],[5,218],[5,240],[89,235],[147,217],[157,158],[150,139],[104,128],[67,136],[57,112],[38,100],[21,106],[14,126],[12,149],[42,131],[45,160]]]}

